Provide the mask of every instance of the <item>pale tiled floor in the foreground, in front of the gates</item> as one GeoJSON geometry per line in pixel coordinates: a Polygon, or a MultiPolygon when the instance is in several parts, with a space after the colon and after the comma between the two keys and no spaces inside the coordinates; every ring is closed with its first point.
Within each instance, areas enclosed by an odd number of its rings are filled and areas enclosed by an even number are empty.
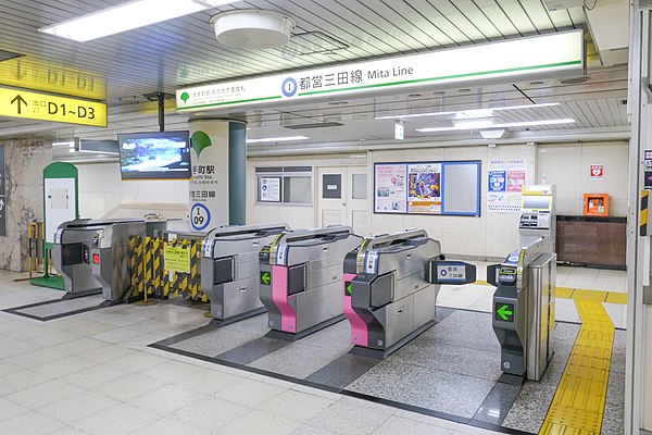
{"type": "MultiPolygon", "coordinates": [[[[0,272],[0,309],[62,296],[18,276],[0,272]]],[[[45,323],[0,312],[0,433],[491,433],[147,347],[202,314],[170,303],[45,323]]]]}

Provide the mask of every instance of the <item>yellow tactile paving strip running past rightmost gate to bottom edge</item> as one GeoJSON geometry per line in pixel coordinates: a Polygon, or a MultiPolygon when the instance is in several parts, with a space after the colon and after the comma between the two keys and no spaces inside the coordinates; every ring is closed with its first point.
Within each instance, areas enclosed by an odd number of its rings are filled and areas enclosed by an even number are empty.
{"type": "Polygon", "coordinates": [[[581,327],[540,435],[599,435],[602,427],[614,324],[600,301],[575,306],[581,327]]]}

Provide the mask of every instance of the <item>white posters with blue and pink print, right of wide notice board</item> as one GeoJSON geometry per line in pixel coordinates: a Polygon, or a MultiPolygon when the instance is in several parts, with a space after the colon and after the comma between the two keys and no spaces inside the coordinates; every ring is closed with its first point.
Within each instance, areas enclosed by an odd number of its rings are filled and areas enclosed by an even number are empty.
{"type": "Polygon", "coordinates": [[[487,210],[519,212],[525,175],[523,160],[491,160],[488,167],[487,210]]]}

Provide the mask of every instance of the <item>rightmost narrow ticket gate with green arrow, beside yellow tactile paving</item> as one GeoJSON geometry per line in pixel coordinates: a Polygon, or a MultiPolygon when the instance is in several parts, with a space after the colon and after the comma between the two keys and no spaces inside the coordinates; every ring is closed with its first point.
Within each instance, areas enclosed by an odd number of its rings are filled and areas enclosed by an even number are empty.
{"type": "Polygon", "coordinates": [[[554,353],[556,254],[549,238],[487,268],[493,332],[501,345],[502,382],[540,381],[554,353]]]}

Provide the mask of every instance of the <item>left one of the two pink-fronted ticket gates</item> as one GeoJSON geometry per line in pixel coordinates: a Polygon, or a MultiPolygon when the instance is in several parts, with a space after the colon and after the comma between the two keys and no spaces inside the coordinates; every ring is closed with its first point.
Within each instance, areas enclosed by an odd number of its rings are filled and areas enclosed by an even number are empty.
{"type": "Polygon", "coordinates": [[[343,319],[342,262],[362,237],[349,226],[280,234],[260,258],[267,336],[294,340],[343,319]]]}

